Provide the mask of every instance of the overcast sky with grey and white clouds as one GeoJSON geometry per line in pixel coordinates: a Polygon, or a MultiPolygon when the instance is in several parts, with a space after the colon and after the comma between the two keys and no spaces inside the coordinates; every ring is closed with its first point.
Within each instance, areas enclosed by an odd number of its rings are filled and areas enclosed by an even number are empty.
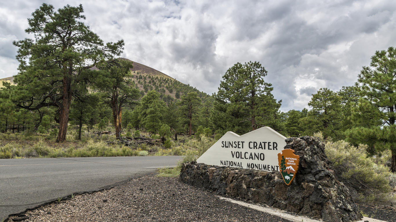
{"type": "Polygon", "coordinates": [[[353,85],[375,51],[396,47],[394,0],[11,0],[0,6],[0,78],[17,74],[12,41],[29,37],[43,2],[82,4],[103,41],[125,41],[122,57],[208,94],[236,62],[258,61],[285,112],[353,85]]]}

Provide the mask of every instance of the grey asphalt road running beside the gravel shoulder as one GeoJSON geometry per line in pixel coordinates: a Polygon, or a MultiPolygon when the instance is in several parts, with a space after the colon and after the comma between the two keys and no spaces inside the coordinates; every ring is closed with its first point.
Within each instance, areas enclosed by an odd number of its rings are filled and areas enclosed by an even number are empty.
{"type": "Polygon", "coordinates": [[[181,156],[0,159],[0,221],[59,197],[175,166],[179,159],[181,156]]]}

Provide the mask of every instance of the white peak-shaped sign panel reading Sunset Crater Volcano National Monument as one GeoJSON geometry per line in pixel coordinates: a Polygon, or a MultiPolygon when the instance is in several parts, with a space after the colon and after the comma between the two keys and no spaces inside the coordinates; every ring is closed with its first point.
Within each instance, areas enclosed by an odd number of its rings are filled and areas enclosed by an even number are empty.
{"type": "Polygon", "coordinates": [[[211,146],[197,163],[279,171],[278,153],[286,137],[265,126],[244,135],[227,132],[211,146]]]}

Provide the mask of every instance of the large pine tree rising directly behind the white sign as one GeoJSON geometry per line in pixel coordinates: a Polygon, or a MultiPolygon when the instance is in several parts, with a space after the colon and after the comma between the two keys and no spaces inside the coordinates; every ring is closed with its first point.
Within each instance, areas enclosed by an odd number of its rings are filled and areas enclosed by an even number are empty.
{"type": "Polygon", "coordinates": [[[256,130],[274,121],[282,101],[274,99],[272,85],[264,81],[266,75],[267,70],[259,62],[251,61],[238,62],[226,71],[219,91],[213,95],[216,111],[224,113],[224,117],[233,122],[232,126],[225,127],[246,133],[249,128],[256,130]],[[248,128],[243,122],[248,122],[248,128]]]}

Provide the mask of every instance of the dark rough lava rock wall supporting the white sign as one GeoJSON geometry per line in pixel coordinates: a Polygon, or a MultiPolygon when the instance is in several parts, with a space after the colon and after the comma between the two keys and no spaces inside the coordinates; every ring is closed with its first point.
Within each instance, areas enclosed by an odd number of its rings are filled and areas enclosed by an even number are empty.
{"type": "Polygon", "coordinates": [[[222,196],[261,203],[321,218],[325,222],[360,220],[362,214],[346,186],[337,181],[318,137],[287,138],[285,149],[300,156],[294,181],[287,186],[279,171],[183,164],[180,181],[222,196]]]}

